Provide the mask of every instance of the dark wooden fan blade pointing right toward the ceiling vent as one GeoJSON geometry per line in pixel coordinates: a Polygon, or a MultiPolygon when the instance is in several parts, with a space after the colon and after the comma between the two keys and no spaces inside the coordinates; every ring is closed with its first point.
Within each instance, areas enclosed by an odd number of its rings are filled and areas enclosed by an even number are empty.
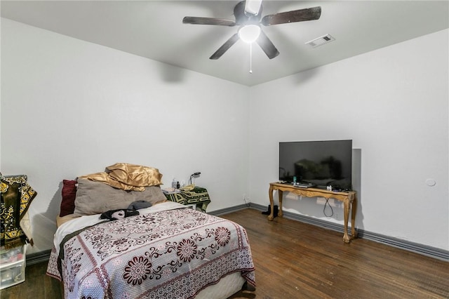
{"type": "Polygon", "coordinates": [[[261,23],[265,26],[318,20],[321,16],[321,6],[298,9],[297,11],[286,11],[285,13],[274,13],[265,15],[261,23]]]}

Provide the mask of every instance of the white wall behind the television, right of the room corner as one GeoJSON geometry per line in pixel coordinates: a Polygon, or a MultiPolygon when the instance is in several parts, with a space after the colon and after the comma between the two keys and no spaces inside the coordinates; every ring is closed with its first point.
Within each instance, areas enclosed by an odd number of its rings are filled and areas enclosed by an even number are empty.
{"type": "MultiPolygon", "coordinates": [[[[250,88],[250,200],[269,203],[280,141],[352,139],[356,226],[448,250],[448,36],[446,29],[250,88]]],[[[316,201],[289,198],[286,211],[343,223],[341,207],[326,218],[316,201]]]]}

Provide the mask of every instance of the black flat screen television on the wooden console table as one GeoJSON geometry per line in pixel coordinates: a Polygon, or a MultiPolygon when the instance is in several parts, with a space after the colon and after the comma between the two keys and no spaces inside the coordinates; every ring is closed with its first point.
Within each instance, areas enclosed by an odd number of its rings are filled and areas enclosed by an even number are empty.
{"type": "Polygon", "coordinates": [[[279,142],[279,181],[352,188],[352,140],[279,142]]]}

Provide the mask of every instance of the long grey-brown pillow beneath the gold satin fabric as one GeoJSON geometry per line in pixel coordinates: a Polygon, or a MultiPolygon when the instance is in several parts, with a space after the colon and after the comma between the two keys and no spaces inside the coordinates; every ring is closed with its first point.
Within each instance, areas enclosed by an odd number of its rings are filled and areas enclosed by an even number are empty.
{"type": "Polygon", "coordinates": [[[148,186],[145,191],[125,191],[104,182],[78,178],[74,213],[79,215],[101,214],[119,208],[128,208],[134,201],[149,201],[152,205],[165,201],[161,187],[148,186]]]}

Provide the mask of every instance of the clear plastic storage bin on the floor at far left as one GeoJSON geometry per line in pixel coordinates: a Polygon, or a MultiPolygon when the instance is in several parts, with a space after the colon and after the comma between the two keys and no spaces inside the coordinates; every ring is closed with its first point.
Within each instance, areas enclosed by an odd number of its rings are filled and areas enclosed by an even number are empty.
{"type": "Polygon", "coordinates": [[[0,290],[25,281],[25,246],[0,248],[0,290]]]}

